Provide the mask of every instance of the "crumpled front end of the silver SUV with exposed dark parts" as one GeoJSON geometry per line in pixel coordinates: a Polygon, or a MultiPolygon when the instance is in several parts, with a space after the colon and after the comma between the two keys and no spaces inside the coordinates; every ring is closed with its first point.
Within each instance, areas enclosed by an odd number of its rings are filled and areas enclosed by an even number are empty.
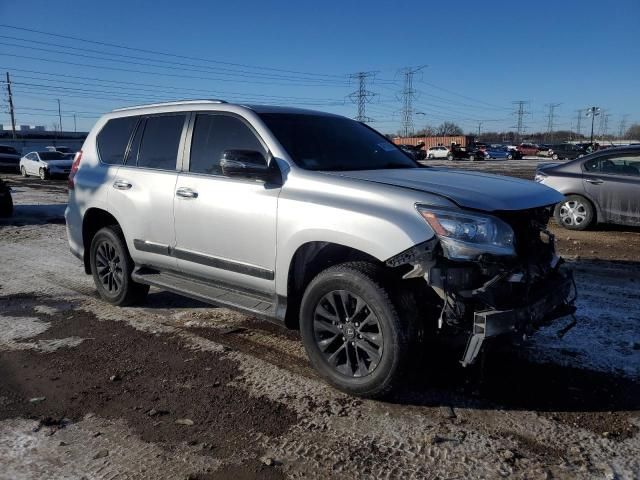
{"type": "Polygon", "coordinates": [[[550,207],[495,214],[513,229],[515,256],[450,260],[435,237],[387,261],[407,269],[405,279],[424,278],[438,295],[437,329],[466,337],[464,366],[475,361],[488,338],[525,337],[575,312],[572,272],[556,255],[554,237],[546,230],[550,215],[550,207]]]}

